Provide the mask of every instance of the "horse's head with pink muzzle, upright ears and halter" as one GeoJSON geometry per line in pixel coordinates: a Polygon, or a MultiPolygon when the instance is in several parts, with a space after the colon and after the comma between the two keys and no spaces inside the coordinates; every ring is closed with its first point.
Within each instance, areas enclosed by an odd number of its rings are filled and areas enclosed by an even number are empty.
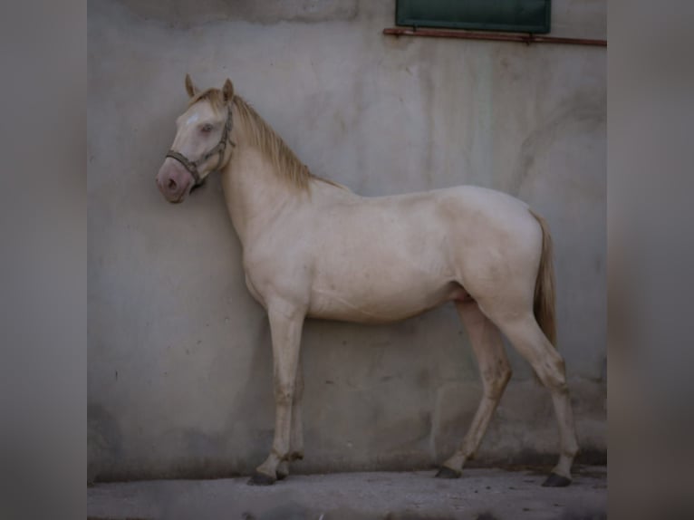
{"type": "Polygon", "coordinates": [[[176,138],[157,174],[159,191],[169,202],[182,202],[210,172],[231,156],[234,85],[198,91],[186,75],[188,110],[176,120],[176,138]],[[231,144],[231,146],[227,146],[231,144]]]}

